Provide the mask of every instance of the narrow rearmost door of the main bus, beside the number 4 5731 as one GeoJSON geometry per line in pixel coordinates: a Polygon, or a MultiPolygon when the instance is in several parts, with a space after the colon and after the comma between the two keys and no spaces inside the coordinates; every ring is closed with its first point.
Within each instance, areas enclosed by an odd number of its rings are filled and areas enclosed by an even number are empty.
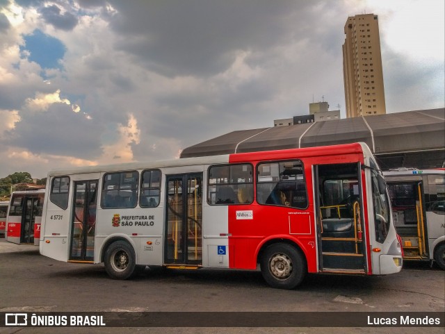
{"type": "Polygon", "coordinates": [[[94,260],[98,182],[74,181],[69,258],[72,262],[94,260]]]}

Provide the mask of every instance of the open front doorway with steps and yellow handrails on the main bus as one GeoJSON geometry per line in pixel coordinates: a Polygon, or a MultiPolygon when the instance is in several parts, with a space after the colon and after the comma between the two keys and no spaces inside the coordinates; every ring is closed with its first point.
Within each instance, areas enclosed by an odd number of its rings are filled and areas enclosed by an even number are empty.
{"type": "Polygon", "coordinates": [[[366,273],[359,163],[316,165],[319,272],[366,273]]]}

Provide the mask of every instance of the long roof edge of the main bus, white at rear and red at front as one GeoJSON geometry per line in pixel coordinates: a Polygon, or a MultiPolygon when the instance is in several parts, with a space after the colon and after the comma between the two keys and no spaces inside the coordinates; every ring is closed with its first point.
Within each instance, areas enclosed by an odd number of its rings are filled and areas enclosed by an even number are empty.
{"type": "Polygon", "coordinates": [[[329,147],[310,147],[304,149],[285,149],[277,151],[259,151],[250,153],[234,153],[221,156],[202,156],[196,158],[179,158],[174,160],[159,160],[149,162],[127,162],[115,165],[95,165],[86,167],[73,167],[70,169],[54,169],[48,173],[48,176],[63,176],[72,174],[86,174],[99,172],[119,172],[129,169],[156,169],[165,167],[183,167],[191,165],[214,165],[230,162],[242,162],[249,160],[275,160],[286,156],[296,155],[296,158],[305,158],[309,156],[325,156],[344,153],[365,153],[372,155],[371,150],[365,143],[339,144],[329,147]]]}

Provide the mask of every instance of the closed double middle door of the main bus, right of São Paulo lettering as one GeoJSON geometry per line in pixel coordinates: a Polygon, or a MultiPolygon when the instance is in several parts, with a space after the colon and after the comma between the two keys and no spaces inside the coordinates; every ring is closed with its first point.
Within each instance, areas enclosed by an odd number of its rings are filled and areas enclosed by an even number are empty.
{"type": "Polygon", "coordinates": [[[166,176],[165,259],[168,267],[202,265],[202,173],[166,176]]]}

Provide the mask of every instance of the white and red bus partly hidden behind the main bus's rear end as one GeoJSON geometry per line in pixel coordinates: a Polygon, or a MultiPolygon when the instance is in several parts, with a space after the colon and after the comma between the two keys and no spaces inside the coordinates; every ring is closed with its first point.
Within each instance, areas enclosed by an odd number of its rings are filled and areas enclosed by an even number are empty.
{"type": "Polygon", "coordinates": [[[44,189],[17,191],[11,194],[6,219],[6,241],[38,246],[43,200],[44,189]]]}

